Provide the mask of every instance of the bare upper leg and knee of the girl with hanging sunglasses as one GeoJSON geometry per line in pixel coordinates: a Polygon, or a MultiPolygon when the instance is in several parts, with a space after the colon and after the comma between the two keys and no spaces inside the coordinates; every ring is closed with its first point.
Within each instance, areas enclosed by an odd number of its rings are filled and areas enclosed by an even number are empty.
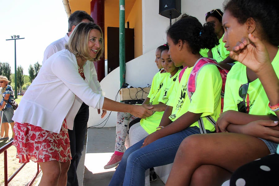
{"type": "Polygon", "coordinates": [[[269,153],[268,147],[261,139],[250,135],[192,135],[181,143],[166,185],[189,185],[193,173],[201,165],[220,166],[233,172],[239,166],[269,153]]]}

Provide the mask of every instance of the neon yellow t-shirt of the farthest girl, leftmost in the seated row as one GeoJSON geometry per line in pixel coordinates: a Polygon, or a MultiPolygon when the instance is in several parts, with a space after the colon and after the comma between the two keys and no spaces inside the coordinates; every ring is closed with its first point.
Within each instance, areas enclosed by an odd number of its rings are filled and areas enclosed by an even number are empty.
{"type": "Polygon", "coordinates": [[[163,81],[168,76],[170,76],[170,73],[161,73],[161,71],[155,74],[152,80],[149,94],[147,96],[150,99],[149,104],[159,104],[158,99],[161,93],[161,88],[163,86],[163,81]]]}

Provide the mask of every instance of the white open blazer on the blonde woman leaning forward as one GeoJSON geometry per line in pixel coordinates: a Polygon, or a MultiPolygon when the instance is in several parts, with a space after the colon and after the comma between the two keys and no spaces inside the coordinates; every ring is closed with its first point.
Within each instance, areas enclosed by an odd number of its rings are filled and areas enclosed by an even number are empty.
{"type": "Polygon", "coordinates": [[[98,88],[100,84],[93,85],[94,80],[90,71],[92,65],[94,66],[93,62],[87,61],[83,67],[85,81],[78,73],[74,54],[65,49],[52,55],[42,65],[38,76],[25,92],[19,107],[15,110],[13,120],[59,133],[67,116],[68,127],[73,129],[73,118],[82,101],[93,108],[103,107],[104,96],[99,94],[98,88]],[[76,99],[74,103],[76,96],[80,100],[76,99]]]}

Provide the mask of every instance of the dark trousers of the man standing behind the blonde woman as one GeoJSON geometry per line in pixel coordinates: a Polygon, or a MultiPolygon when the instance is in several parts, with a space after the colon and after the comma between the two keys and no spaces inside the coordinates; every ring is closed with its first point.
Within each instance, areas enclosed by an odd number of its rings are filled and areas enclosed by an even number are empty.
{"type": "Polygon", "coordinates": [[[78,162],[82,156],[83,145],[87,122],[89,118],[89,107],[82,103],[74,120],[73,130],[68,129],[72,160],[68,170],[67,186],[78,186],[77,168],[78,162]]]}

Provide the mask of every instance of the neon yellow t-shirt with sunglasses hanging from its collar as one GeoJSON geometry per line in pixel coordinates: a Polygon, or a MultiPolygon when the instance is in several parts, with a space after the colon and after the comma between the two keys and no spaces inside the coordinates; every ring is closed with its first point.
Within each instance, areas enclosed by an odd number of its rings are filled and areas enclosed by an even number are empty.
{"type": "MultiPolygon", "coordinates": [[[[277,77],[279,77],[279,51],[271,64],[277,74],[277,77]]],[[[243,99],[239,96],[239,87],[247,82],[246,66],[237,62],[232,66],[232,69],[229,71],[227,76],[224,96],[224,112],[227,110],[238,111],[237,104],[243,101],[243,99]]],[[[249,114],[275,115],[275,113],[268,107],[269,100],[259,78],[249,83],[247,93],[249,94],[249,114]]]]}

